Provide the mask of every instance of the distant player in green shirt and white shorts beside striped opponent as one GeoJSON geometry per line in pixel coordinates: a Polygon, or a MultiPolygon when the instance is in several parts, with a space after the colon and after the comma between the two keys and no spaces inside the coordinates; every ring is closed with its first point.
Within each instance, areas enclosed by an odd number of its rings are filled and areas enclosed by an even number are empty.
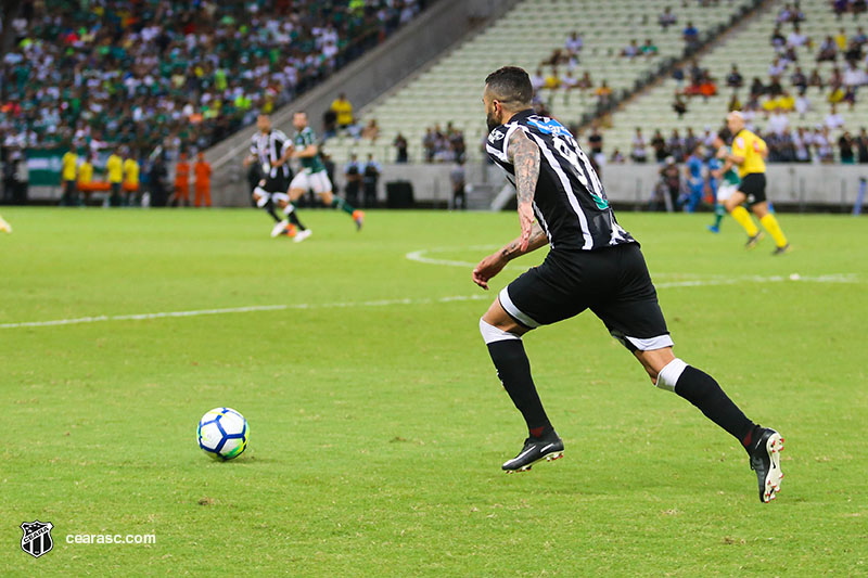
{"type": "MultiPolygon", "coordinates": [[[[326,165],[319,154],[317,136],[314,129],[307,126],[307,113],[298,112],[292,116],[292,125],[295,127],[295,139],[291,156],[302,163],[302,170],[290,183],[290,200],[295,202],[312,190],[319,196],[322,204],[327,207],[340,208],[353,218],[356,230],[361,230],[365,222],[365,214],[356,210],[349,203],[332,192],[332,182],[326,171],[326,165]]],[[[296,241],[310,236],[310,230],[302,231],[296,235],[296,241]],[[304,234],[303,234],[304,233],[304,234]]]]}

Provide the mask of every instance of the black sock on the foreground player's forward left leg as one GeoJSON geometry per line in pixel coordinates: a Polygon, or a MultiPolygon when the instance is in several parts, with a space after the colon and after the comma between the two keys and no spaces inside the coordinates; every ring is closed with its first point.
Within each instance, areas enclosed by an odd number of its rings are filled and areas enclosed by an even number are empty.
{"type": "Polygon", "coordinates": [[[488,354],[497,368],[500,383],[522,412],[527,429],[534,437],[542,437],[552,431],[542,409],[542,402],[531,377],[531,362],[524,352],[521,339],[506,339],[488,344],[488,354]]]}

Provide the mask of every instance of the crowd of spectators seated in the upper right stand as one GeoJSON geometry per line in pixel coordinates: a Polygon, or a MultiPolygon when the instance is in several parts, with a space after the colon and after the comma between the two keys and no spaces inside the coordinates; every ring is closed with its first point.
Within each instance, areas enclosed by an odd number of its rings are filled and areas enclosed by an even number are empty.
{"type": "MultiPolygon", "coordinates": [[[[832,2],[832,5],[838,7],[839,14],[853,12],[856,17],[861,12],[853,2],[832,2]],[[839,11],[844,4],[846,10],[839,11]]],[[[661,26],[665,14],[661,14],[661,26]]],[[[868,35],[861,26],[850,36],[841,28],[837,35],[827,36],[815,44],[802,33],[801,24],[805,20],[797,1],[780,9],[769,39],[775,55],[767,78],[754,77],[746,82],[738,64],[733,63],[723,80],[730,91],[726,110],[742,111],[748,127],[760,132],[768,143],[770,162],[831,163],[835,153],[842,163],[866,162],[868,143],[865,129],[858,133],[852,128],[847,130],[839,108],[847,105],[852,111],[860,87],[868,85],[868,57],[865,54],[868,35]],[[803,65],[812,60],[834,62],[835,65],[827,74],[816,65],[809,67],[808,73],[808,67],[803,68],[803,65]],[[812,88],[815,90],[809,90],[812,88]],[[822,123],[814,126],[800,123],[808,112],[827,107],[829,112],[822,123]]],[[[686,67],[675,66],[673,78],[678,88],[672,110],[678,118],[688,112],[691,98],[707,100],[718,94],[718,80],[695,60],[686,67]]],[[[692,130],[687,136],[674,131],[669,137],[658,131],[643,142],[644,137],[639,132],[634,137],[630,157],[640,163],[654,157],[662,163],[673,156],[679,162],[691,150],[694,138],[692,130]]],[[[623,155],[618,153],[618,156],[623,155]]]]}

